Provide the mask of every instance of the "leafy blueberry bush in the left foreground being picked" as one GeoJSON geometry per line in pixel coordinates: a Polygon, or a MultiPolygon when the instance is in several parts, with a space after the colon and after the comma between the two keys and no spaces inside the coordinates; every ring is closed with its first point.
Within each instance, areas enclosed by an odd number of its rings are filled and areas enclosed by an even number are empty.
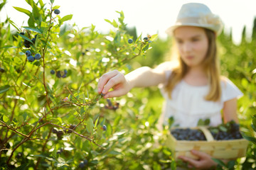
{"type": "Polygon", "coordinates": [[[32,10],[14,8],[29,16],[27,26],[1,23],[1,169],[112,166],[105,163],[124,157],[118,143],[130,139],[121,116],[108,113],[125,103],[102,100],[97,79],[110,69],[129,71],[156,35],[131,41],[122,11],[118,21],[106,19],[114,29],[103,35],[93,25],[64,25],[72,15],[61,16],[53,0],[24,3],[32,10]]]}

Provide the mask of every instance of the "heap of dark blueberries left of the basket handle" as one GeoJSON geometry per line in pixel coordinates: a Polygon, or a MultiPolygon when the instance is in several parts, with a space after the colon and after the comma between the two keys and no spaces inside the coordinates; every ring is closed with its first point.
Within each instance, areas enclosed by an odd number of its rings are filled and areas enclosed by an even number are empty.
{"type": "Polygon", "coordinates": [[[171,130],[171,135],[173,135],[176,140],[206,140],[201,130],[192,130],[190,128],[176,128],[171,130]]]}

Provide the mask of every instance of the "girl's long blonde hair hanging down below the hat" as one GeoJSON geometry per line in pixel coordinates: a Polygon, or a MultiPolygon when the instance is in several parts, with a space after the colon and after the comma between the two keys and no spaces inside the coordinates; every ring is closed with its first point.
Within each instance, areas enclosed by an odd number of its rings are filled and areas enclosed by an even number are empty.
{"type": "MultiPolygon", "coordinates": [[[[206,101],[219,101],[221,96],[220,87],[220,61],[217,56],[217,47],[215,40],[215,33],[212,30],[204,28],[206,36],[208,38],[208,51],[206,53],[206,58],[203,60],[203,69],[206,71],[208,76],[208,83],[210,86],[208,94],[205,96],[206,101]]],[[[175,67],[168,79],[168,83],[165,86],[165,90],[169,93],[169,98],[171,98],[171,91],[178,82],[185,77],[188,73],[188,66],[178,57],[178,67],[175,67]]]]}

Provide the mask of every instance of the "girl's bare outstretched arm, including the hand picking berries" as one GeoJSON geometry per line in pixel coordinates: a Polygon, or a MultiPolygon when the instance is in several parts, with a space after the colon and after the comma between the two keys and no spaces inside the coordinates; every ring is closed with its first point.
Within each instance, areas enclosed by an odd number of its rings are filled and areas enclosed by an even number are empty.
{"type": "Polygon", "coordinates": [[[134,87],[156,86],[164,83],[165,74],[161,69],[140,67],[125,75],[117,70],[107,72],[100,77],[98,93],[105,94],[104,98],[123,96],[134,87]],[[113,91],[110,91],[110,89],[113,91]]]}

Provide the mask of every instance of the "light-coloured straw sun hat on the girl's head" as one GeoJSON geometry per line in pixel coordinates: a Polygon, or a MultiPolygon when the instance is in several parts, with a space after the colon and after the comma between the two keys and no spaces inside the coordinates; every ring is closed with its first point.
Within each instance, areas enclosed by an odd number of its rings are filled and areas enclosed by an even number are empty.
{"type": "Polygon", "coordinates": [[[176,23],[168,28],[166,33],[172,35],[174,30],[180,26],[208,28],[218,35],[223,28],[223,23],[218,16],[210,11],[208,6],[199,3],[188,3],[181,6],[176,23]]]}

